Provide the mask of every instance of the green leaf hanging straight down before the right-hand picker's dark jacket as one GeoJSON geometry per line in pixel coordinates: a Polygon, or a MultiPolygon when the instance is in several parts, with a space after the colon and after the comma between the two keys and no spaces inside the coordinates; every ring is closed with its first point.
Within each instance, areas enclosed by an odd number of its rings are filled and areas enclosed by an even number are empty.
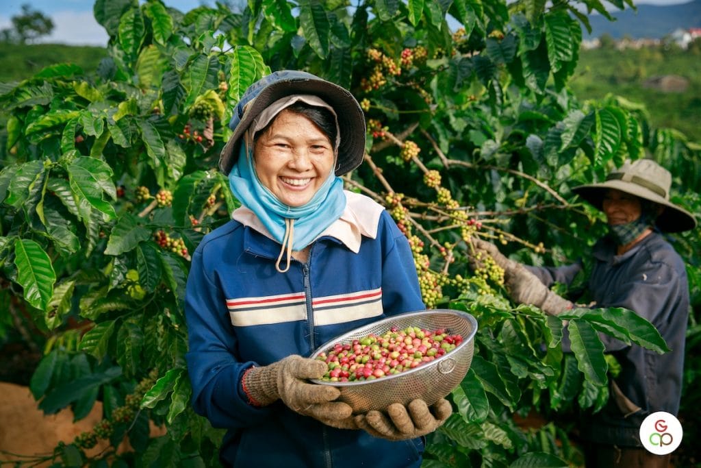
{"type": "Polygon", "coordinates": [[[567,326],[572,352],[577,358],[577,367],[587,380],[596,385],[606,383],[608,364],[604,359],[604,343],[589,323],[580,319],[569,321],[567,326]]]}

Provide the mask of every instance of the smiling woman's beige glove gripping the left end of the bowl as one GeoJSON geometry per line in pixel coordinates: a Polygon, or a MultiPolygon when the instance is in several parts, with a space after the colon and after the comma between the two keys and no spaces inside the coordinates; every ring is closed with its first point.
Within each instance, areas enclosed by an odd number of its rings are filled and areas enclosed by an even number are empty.
{"type": "Polygon", "coordinates": [[[334,401],[340,390],[318,385],[308,379],[319,379],[327,370],[326,363],[302,356],[287,356],[269,366],[253,367],[243,375],[244,392],[256,406],[268,406],[278,399],[288,408],[328,426],[358,429],[347,403],[334,401]]]}

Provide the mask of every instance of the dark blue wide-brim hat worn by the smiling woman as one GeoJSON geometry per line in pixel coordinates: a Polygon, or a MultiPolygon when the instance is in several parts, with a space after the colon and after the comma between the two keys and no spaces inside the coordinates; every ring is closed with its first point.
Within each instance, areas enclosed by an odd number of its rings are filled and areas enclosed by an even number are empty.
{"type": "Polygon", "coordinates": [[[316,95],[336,112],[341,142],[336,160],[336,175],[343,175],[360,166],[365,156],[365,114],[350,91],[311,73],[280,70],[256,81],[247,88],[233,109],[229,128],[233,134],[219,155],[219,169],[229,174],[236,159],[243,135],[252,121],[273,102],[295,94],[316,95]]]}

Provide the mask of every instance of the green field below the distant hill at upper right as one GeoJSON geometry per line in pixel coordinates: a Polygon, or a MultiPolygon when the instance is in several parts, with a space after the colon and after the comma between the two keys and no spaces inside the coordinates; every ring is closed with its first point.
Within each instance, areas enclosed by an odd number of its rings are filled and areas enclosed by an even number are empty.
{"type": "Polygon", "coordinates": [[[570,86],[580,100],[620,95],[646,106],[656,127],[676,128],[689,140],[701,142],[701,48],[682,51],[659,46],[617,51],[599,48],[580,53],[570,86]],[[644,86],[655,76],[679,75],[688,80],[683,92],[644,86]]]}

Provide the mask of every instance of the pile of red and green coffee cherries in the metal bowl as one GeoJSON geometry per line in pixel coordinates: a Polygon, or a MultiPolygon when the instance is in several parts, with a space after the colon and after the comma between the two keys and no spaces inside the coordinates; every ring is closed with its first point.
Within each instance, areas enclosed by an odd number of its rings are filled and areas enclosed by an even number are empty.
{"type": "Polygon", "coordinates": [[[451,352],[462,341],[462,335],[450,335],[440,328],[429,331],[418,327],[403,330],[393,327],[383,335],[369,334],[345,345],[336,343],[316,359],[328,366],[321,380],[373,380],[430,363],[451,352]]]}

